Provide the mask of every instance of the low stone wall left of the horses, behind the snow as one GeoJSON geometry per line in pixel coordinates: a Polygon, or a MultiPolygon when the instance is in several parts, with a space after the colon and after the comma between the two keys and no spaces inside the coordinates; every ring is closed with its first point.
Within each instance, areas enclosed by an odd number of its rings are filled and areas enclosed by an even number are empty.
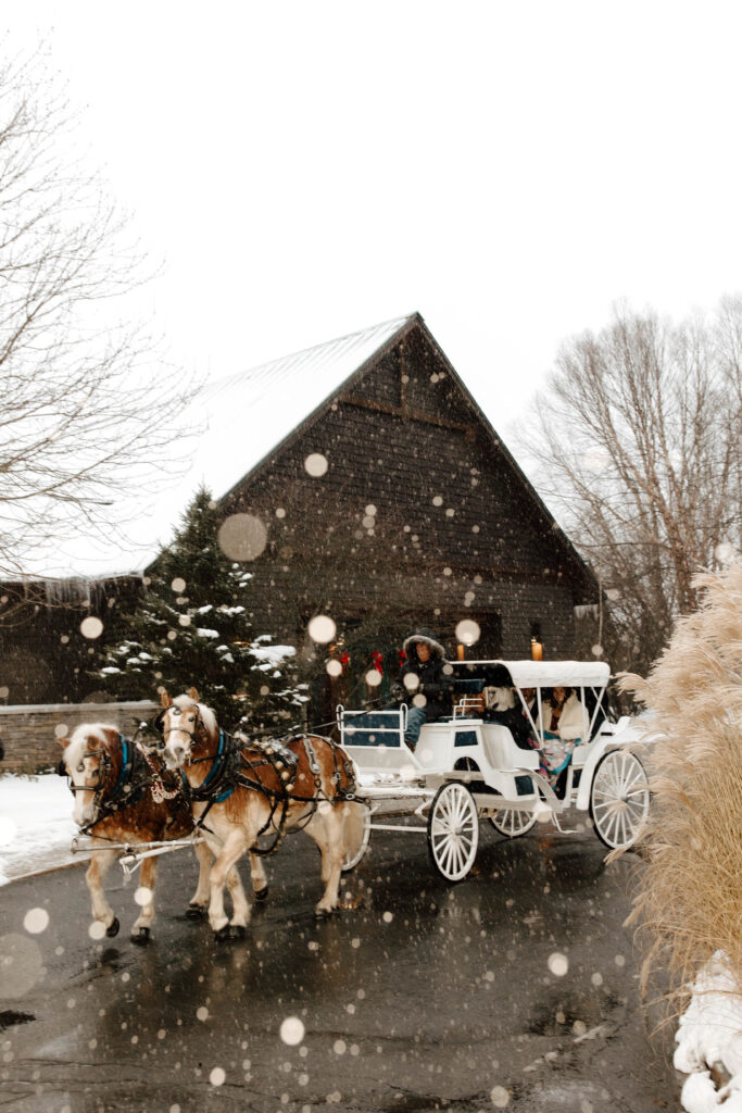
{"type": "Polygon", "coordinates": [[[43,703],[0,707],[0,741],[4,759],[0,771],[46,772],[56,769],[61,748],[58,738],[72,733],[81,722],[105,722],[131,737],[139,722],[151,719],[158,703],[43,703]]]}

